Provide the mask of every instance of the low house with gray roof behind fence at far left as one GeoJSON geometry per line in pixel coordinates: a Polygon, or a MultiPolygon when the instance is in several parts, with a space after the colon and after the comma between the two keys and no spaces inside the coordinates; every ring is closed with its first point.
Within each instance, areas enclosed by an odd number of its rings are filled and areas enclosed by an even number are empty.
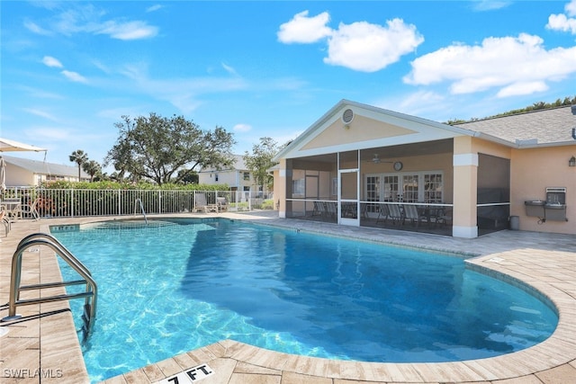
{"type": "MultiPolygon", "coordinates": [[[[58,165],[21,157],[4,156],[6,163],[6,186],[36,186],[51,181],[78,181],[78,166],[58,165]]],[[[81,172],[83,182],[90,181],[90,175],[81,172]]]]}

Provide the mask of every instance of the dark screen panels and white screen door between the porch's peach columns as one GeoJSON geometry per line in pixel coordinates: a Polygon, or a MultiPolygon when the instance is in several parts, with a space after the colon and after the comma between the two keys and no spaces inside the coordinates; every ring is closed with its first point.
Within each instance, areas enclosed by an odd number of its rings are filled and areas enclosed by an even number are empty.
{"type": "MultiPolygon", "coordinates": [[[[286,217],[452,236],[453,140],[287,161],[286,217]]],[[[508,228],[509,160],[480,155],[481,233],[508,228]]]]}

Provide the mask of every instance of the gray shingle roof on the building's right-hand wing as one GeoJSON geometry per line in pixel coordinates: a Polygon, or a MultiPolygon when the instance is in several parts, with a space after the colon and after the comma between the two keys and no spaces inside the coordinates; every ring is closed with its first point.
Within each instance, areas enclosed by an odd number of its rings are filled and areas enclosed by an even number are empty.
{"type": "Polygon", "coordinates": [[[519,145],[553,145],[576,140],[576,116],[571,106],[457,124],[456,127],[485,133],[519,145]],[[537,141],[534,142],[534,139],[537,141]],[[519,140],[519,141],[518,141],[519,140]]]}

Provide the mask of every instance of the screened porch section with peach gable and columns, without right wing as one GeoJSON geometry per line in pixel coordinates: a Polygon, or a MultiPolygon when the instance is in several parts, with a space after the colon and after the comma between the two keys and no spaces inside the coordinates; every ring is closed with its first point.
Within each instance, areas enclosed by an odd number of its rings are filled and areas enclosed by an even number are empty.
{"type": "Polygon", "coordinates": [[[276,156],[279,216],[477,237],[509,227],[509,149],[342,101],[276,156]]]}

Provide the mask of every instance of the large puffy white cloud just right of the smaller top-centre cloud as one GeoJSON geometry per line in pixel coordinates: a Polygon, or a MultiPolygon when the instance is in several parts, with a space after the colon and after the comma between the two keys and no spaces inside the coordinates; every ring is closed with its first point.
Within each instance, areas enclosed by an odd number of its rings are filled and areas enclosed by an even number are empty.
{"type": "Polygon", "coordinates": [[[386,24],[383,27],[368,22],[341,23],[329,39],[329,56],[324,62],[375,72],[400,60],[424,41],[414,25],[401,19],[386,24]]]}

